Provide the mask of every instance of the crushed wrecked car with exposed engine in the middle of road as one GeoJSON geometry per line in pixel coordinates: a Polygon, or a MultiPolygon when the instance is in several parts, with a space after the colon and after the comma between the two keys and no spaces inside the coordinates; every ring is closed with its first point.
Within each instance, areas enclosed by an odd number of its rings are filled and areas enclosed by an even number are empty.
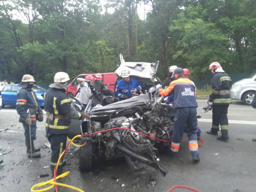
{"type": "Polygon", "coordinates": [[[85,110],[76,104],[76,110],[89,113],[91,118],[73,120],[69,128],[69,137],[86,135],[80,137],[81,145],[86,142],[79,151],[80,170],[91,171],[99,158],[111,160],[124,156],[134,170],[146,164],[165,176],[168,171],[159,164],[157,155],[170,146],[175,110],[171,104],[162,103],[163,98],[155,90],[155,84],[159,83],[155,77],[159,62],[125,62],[122,55],[120,60],[117,81],[120,73],[128,69],[131,77],[143,81],[143,94],[119,101],[113,91],[103,90],[101,104],[92,107],[91,99],[85,110]]]}

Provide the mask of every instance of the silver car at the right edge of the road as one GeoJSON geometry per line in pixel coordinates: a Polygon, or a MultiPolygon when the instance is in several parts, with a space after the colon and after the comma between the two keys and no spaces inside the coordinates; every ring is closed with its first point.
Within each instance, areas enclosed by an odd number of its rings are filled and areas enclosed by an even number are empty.
{"type": "Polygon", "coordinates": [[[232,100],[241,100],[244,104],[251,105],[256,91],[256,73],[235,82],[230,91],[232,100]]]}

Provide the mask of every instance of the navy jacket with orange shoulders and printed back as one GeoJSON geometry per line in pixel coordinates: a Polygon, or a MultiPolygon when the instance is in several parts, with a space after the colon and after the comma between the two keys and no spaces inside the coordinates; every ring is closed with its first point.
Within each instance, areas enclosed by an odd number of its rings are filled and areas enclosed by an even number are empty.
{"type": "Polygon", "coordinates": [[[160,91],[160,95],[167,96],[174,92],[174,108],[198,107],[195,98],[195,84],[184,75],[178,76],[169,87],[160,91]]]}

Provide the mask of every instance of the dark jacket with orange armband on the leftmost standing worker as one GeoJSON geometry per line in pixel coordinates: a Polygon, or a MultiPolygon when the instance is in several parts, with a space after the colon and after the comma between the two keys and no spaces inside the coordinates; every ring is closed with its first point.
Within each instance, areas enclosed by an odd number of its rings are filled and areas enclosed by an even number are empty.
{"type": "Polygon", "coordinates": [[[16,110],[19,116],[19,122],[25,123],[23,119],[28,117],[27,110],[30,112],[30,119],[36,122],[36,113],[42,112],[42,109],[37,100],[36,93],[30,88],[22,88],[17,93],[16,110]]]}

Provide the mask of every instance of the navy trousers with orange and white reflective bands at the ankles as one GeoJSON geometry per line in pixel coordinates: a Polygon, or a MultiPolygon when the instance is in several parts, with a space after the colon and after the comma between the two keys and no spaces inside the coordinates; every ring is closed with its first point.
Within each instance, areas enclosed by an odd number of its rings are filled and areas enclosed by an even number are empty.
{"type": "Polygon", "coordinates": [[[187,135],[189,141],[189,149],[192,156],[199,156],[197,143],[197,116],[196,108],[178,108],[174,117],[174,134],[171,144],[171,154],[175,155],[180,147],[184,130],[187,124],[187,135]]]}

